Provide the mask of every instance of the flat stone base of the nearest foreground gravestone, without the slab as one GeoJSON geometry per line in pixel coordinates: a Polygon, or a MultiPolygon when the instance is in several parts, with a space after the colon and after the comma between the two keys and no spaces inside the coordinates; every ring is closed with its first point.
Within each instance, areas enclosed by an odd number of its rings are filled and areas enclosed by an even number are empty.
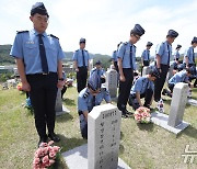
{"type": "MultiPolygon", "coordinates": [[[[69,169],[88,169],[88,144],[61,154],[69,169]]],[[[118,158],[117,169],[131,169],[118,158]]]]}

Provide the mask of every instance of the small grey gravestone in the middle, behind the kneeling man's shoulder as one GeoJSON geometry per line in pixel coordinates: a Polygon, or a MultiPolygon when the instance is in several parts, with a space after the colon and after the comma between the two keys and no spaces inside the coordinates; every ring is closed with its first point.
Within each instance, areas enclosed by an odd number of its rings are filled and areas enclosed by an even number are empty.
{"type": "Polygon", "coordinates": [[[109,91],[111,98],[117,98],[117,71],[114,69],[108,69],[106,71],[106,88],[109,91]]]}

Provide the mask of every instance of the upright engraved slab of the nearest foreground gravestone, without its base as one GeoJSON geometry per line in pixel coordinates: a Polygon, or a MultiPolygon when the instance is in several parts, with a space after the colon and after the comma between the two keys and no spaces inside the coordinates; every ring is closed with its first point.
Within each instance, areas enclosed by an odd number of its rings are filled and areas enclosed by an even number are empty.
{"type": "Polygon", "coordinates": [[[94,106],[88,116],[88,168],[117,169],[121,113],[113,104],[94,106]]]}

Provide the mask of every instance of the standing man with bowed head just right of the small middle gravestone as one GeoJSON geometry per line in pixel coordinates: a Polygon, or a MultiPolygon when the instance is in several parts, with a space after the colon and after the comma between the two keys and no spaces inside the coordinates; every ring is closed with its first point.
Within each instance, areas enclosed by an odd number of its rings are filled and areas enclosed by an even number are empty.
{"type": "Polygon", "coordinates": [[[136,24],[130,31],[129,42],[124,43],[118,52],[118,69],[119,69],[119,95],[117,108],[121,111],[121,115],[127,117],[128,111],[126,109],[130,88],[134,80],[134,70],[136,69],[136,44],[140,36],[144,34],[141,25],[136,24]]]}

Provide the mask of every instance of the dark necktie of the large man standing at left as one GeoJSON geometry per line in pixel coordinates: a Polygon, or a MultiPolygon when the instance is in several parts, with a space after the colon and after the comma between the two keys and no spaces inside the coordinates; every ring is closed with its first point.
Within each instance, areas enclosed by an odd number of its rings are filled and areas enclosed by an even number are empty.
{"type": "Polygon", "coordinates": [[[39,56],[40,56],[40,60],[42,60],[43,72],[48,74],[48,64],[47,64],[47,58],[46,58],[45,45],[43,43],[42,36],[43,36],[43,34],[38,34],[38,37],[39,37],[39,56]]]}

